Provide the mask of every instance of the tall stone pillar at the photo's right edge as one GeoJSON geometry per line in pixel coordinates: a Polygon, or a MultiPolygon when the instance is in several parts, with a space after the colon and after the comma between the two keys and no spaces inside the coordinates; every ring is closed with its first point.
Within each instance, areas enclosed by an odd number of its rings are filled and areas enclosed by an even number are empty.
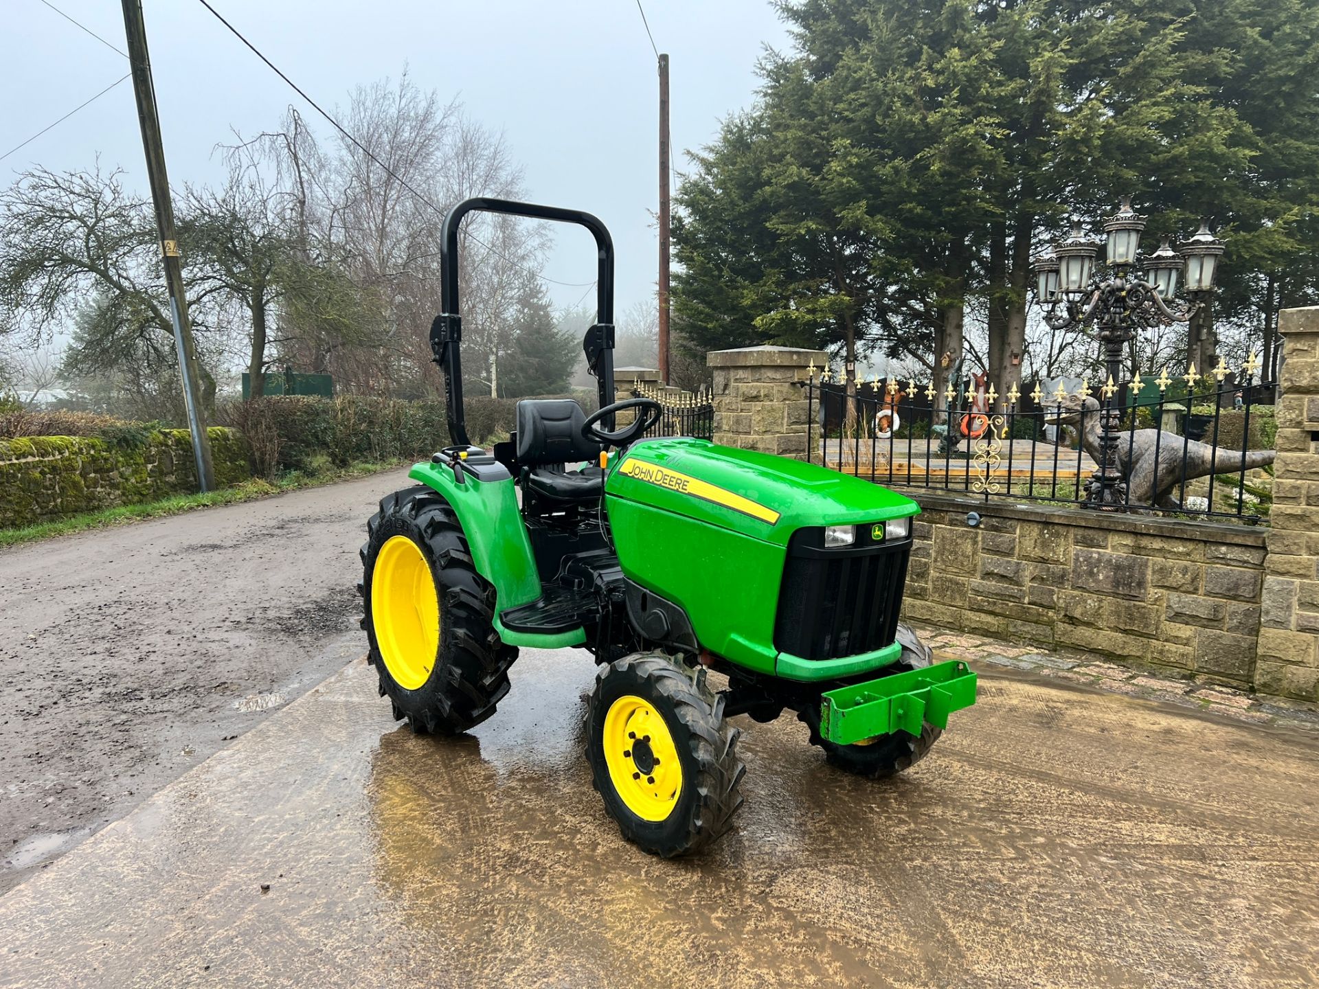
{"type": "Polygon", "coordinates": [[[1256,690],[1319,700],[1319,307],[1283,310],[1278,332],[1278,459],[1256,690]]]}

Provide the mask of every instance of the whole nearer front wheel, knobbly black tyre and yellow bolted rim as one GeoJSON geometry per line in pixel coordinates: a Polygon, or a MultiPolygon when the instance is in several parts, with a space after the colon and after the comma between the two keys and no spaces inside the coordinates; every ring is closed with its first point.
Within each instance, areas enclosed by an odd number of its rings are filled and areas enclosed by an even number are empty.
{"type": "Polygon", "coordinates": [[[587,704],[592,785],[623,836],[663,858],[695,852],[732,825],[745,766],[724,702],[662,653],[601,666],[587,704]]]}

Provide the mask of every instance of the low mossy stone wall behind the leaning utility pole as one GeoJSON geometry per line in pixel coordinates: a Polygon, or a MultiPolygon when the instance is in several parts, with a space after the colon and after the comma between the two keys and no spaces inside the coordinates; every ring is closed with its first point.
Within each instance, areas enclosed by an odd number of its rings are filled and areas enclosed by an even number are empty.
{"type": "MultiPolygon", "coordinates": [[[[210,436],[218,484],[252,476],[241,434],[215,427],[210,436]]],[[[160,430],[140,443],[92,436],[0,439],[0,529],[194,491],[197,465],[187,430],[160,430]]]]}

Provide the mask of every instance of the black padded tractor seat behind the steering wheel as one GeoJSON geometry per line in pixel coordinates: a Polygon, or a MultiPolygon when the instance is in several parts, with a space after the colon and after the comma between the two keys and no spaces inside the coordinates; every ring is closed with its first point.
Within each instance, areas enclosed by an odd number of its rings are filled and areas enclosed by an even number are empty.
{"type": "Polygon", "coordinates": [[[517,404],[517,464],[526,488],[546,501],[580,505],[599,501],[604,472],[600,444],[582,435],[586,413],[571,398],[525,398],[517,404]],[[565,464],[588,462],[580,471],[565,464]]]}

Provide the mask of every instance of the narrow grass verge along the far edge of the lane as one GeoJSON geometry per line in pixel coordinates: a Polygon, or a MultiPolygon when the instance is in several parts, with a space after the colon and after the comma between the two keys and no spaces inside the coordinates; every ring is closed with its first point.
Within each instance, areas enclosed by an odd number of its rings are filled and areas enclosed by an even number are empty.
{"type": "Polygon", "coordinates": [[[286,491],[297,491],[298,488],[315,488],[322,484],[365,477],[404,465],[402,462],[351,464],[348,467],[318,464],[311,471],[288,471],[273,484],[253,477],[231,488],[210,491],[204,494],[175,494],[141,505],[119,505],[116,508],[103,508],[99,512],[83,512],[54,522],[38,522],[37,525],[28,525],[21,529],[0,529],[0,547],[49,539],[55,535],[69,535],[87,529],[106,529],[107,526],[135,522],[140,518],[177,516],[197,508],[210,508],[211,505],[236,505],[240,501],[255,501],[286,491]]]}

